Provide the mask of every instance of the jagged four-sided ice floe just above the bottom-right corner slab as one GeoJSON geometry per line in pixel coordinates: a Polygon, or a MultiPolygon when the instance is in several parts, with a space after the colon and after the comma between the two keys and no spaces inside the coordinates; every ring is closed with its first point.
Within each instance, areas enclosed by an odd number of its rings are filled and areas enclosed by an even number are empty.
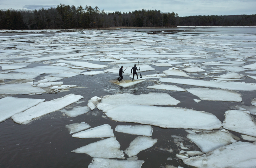
{"type": "Polygon", "coordinates": [[[218,130],[207,134],[188,134],[187,137],[191,139],[192,142],[196,143],[204,153],[236,142],[227,130],[226,132],[218,130]]]}

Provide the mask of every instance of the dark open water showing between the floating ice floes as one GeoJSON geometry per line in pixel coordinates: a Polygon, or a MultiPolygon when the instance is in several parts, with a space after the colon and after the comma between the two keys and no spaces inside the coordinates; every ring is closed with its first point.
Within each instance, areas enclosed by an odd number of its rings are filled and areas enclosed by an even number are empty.
{"type": "MultiPolygon", "coordinates": [[[[235,34],[241,32],[242,34],[253,34],[256,32],[256,28],[176,28],[175,31],[180,29],[186,29],[186,31],[179,31],[179,33],[193,33],[196,30],[197,33],[232,33],[235,34]],[[216,32],[217,31],[217,32],[216,32]]],[[[166,31],[166,29],[152,29],[154,32],[162,33],[159,31],[166,31]]],[[[152,31],[147,29],[147,31],[152,31]]],[[[119,30],[116,30],[119,31],[119,30]]],[[[124,30],[122,30],[124,31],[124,30]]],[[[132,31],[131,29],[125,31],[132,31]]],[[[134,30],[137,31],[137,30],[134,30]]],[[[139,29],[140,32],[145,31],[144,29],[139,29]]],[[[7,33],[5,33],[6,35],[7,33]]],[[[2,36],[0,34],[0,36],[2,36]]],[[[88,61],[96,64],[107,65],[108,62],[99,61],[88,61]]],[[[250,62],[251,63],[251,62],[250,62]]],[[[249,62],[246,64],[250,64],[249,62]]],[[[245,65],[246,65],[245,64],[245,65]]],[[[29,67],[42,66],[43,64],[30,64],[29,67]]],[[[155,74],[162,73],[162,71],[167,70],[168,67],[156,67],[155,71],[143,72],[145,74],[155,74]]],[[[225,74],[225,73],[220,73],[225,74]]],[[[218,74],[218,75],[220,75],[218,74]]],[[[240,74],[244,74],[241,72],[240,74]]],[[[44,76],[44,75],[43,75],[44,76]]],[[[193,75],[197,77],[196,75],[193,75]]],[[[200,75],[198,75],[200,76],[200,75]]],[[[39,80],[41,76],[37,77],[39,80]]],[[[174,91],[164,91],[156,89],[147,89],[147,86],[154,85],[152,81],[145,81],[139,83],[135,86],[128,88],[122,88],[111,82],[110,80],[115,80],[118,77],[117,74],[98,74],[95,76],[85,76],[77,75],[71,78],[66,78],[63,81],[63,85],[78,85],[79,87],[86,88],[71,88],[67,92],[60,92],[58,94],[42,94],[42,95],[15,95],[13,97],[20,98],[38,98],[45,99],[45,101],[50,101],[56,98],[63,97],[67,94],[73,93],[84,96],[82,99],[84,102],[80,104],[73,103],[72,105],[86,106],[87,101],[93,96],[104,96],[116,93],[132,93],[132,94],[145,94],[149,92],[163,92],[168,93],[170,96],[181,101],[175,107],[189,108],[199,111],[210,112],[217,116],[217,118],[223,122],[225,119],[225,111],[231,109],[230,107],[234,105],[246,105],[251,106],[252,97],[255,97],[256,92],[243,92],[242,102],[223,102],[223,101],[201,101],[196,103],[193,99],[198,99],[197,96],[190,94],[188,92],[174,92],[174,91]]],[[[173,78],[183,78],[183,77],[173,77],[173,78]]],[[[242,79],[244,79],[243,77],[242,79]]],[[[128,75],[124,75],[124,79],[130,79],[128,75]]],[[[203,80],[211,80],[211,78],[205,77],[203,80]]],[[[246,83],[255,83],[253,79],[246,79],[246,83]]],[[[168,83],[165,83],[168,84],[168,83]]],[[[175,84],[176,86],[182,88],[196,88],[189,85],[175,84]]],[[[91,125],[91,128],[102,125],[109,124],[113,130],[117,125],[136,125],[137,123],[126,123],[126,122],[116,122],[109,118],[101,117],[104,113],[97,108],[94,110],[79,115],[77,117],[63,116],[60,111],[45,115],[38,120],[30,122],[29,124],[20,125],[8,119],[0,123],[0,167],[1,168],[87,168],[89,163],[92,161],[92,157],[87,154],[78,154],[71,152],[74,149],[85,146],[89,143],[99,141],[100,138],[89,138],[89,139],[79,139],[71,137],[65,125],[72,124],[76,122],[85,122],[91,125]],[[97,114],[97,116],[95,116],[97,114]]],[[[153,136],[152,138],[157,138],[157,143],[147,149],[141,151],[137,154],[139,160],[144,160],[145,163],[142,168],[160,168],[165,165],[181,166],[184,168],[190,167],[183,164],[180,159],[176,159],[175,154],[179,153],[180,147],[174,143],[174,138],[172,135],[181,136],[180,142],[183,142],[184,146],[188,146],[190,150],[199,150],[195,143],[189,141],[186,138],[188,134],[184,129],[163,129],[156,126],[152,126],[153,136]],[[160,148],[172,149],[173,153],[168,151],[160,150],[160,148]],[[172,157],[173,160],[166,160],[168,157],[172,157]]],[[[232,132],[232,131],[230,131],[232,132]]],[[[232,132],[236,136],[241,134],[232,132]]],[[[114,131],[116,140],[121,144],[120,150],[125,150],[131,141],[135,139],[136,135],[124,134],[114,131]]],[[[241,141],[243,141],[241,139],[241,141]]],[[[100,150],[100,149],[99,149],[100,150]]],[[[127,155],[125,155],[127,157],[127,155]]]]}

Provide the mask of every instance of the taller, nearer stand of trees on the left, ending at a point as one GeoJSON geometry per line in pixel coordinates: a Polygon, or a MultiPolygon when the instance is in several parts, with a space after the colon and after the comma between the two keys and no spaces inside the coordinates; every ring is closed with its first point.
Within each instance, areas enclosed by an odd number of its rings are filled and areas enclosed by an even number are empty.
{"type": "Polygon", "coordinates": [[[175,27],[178,14],[160,10],[105,12],[95,6],[70,6],[39,10],[0,10],[0,29],[73,29],[107,27],[175,27]]]}

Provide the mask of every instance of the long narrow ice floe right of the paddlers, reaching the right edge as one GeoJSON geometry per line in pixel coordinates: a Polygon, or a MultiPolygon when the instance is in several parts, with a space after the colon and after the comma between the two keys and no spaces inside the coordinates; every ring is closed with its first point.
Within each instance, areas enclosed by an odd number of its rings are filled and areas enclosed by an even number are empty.
{"type": "Polygon", "coordinates": [[[211,88],[221,88],[230,90],[244,90],[252,91],[256,90],[254,83],[240,83],[240,82],[215,82],[215,81],[203,81],[194,79],[177,79],[177,78],[160,78],[160,82],[178,83],[183,85],[193,85],[211,88]]]}

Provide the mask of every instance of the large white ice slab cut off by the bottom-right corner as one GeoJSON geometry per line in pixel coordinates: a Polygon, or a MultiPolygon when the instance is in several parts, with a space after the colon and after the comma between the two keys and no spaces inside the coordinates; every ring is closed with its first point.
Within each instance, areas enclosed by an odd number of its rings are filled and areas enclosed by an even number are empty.
{"type": "Polygon", "coordinates": [[[198,168],[253,168],[256,165],[256,144],[236,142],[208,152],[203,156],[183,159],[185,164],[198,168]]]}

